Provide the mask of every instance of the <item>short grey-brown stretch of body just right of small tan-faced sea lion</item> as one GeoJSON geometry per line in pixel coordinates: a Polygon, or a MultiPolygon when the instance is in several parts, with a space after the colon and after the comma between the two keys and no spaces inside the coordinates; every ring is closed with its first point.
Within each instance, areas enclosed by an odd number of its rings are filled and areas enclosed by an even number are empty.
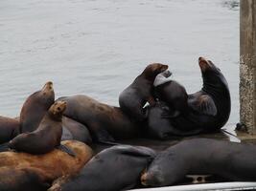
{"type": "Polygon", "coordinates": [[[61,140],[76,139],[89,144],[92,142],[90,133],[83,124],[69,117],[62,117],[61,140]]]}

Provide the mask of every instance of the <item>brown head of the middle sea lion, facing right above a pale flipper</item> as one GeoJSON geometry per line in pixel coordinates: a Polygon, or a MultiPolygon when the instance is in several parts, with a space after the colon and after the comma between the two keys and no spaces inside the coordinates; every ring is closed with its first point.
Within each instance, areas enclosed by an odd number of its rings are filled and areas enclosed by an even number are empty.
{"type": "Polygon", "coordinates": [[[168,69],[168,65],[160,64],[160,63],[152,63],[146,67],[146,69],[143,71],[143,75],[149,79],[154,80],[155,76],[157,74],[160,74],[168,69]]]}

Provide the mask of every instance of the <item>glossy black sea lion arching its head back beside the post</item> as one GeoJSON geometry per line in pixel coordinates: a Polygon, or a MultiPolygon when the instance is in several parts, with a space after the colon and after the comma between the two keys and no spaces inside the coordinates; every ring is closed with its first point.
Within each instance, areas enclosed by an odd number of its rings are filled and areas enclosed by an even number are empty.
{"type": "MultiPolygon", "coordinates": [[[[203,85],[200,91],[188,95],[188,108],[177,117],[170,117],[172,126],[181,131],[218,131],[230,115],[228,85],[221,70],[212,61],[199,57],[203,85]]],[[[172,109],[172,108],[171,108],[172,109]]]]}

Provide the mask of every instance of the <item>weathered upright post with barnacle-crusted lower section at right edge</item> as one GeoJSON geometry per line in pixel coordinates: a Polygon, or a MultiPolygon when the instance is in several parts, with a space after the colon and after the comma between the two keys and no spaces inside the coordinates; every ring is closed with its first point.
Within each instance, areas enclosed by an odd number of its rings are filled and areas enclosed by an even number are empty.
{"type": "Polygon", "coordinates": [[[256,135],[256,0],[240,0],[240,120],[256,135]]]}

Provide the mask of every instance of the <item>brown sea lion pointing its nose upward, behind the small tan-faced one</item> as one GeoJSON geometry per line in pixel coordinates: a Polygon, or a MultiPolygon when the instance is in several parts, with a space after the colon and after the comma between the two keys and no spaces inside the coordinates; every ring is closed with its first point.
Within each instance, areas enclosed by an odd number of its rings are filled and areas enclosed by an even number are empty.
{"type": "Polygon", "coordinates": [[[20,132],[33,132],[55,102],[53,82],[47,82],[40,91],[29,96],[20,112],[20,132]]]}

